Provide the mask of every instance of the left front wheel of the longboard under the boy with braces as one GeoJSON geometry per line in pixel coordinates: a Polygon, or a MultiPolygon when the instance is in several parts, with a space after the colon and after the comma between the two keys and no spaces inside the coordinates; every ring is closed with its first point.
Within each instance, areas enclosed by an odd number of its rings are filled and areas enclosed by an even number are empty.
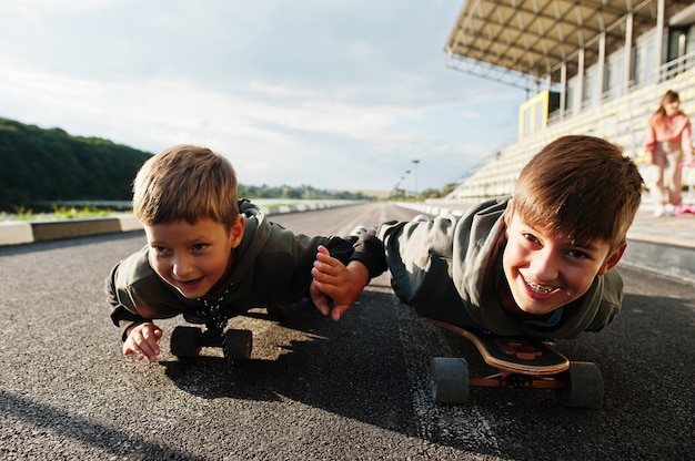
{"type": "Polygon", "coordinates": [[[469,363],[463,358],[434,357],[431,385],[435,403],[465,403],[469,400],[469,363]]]}

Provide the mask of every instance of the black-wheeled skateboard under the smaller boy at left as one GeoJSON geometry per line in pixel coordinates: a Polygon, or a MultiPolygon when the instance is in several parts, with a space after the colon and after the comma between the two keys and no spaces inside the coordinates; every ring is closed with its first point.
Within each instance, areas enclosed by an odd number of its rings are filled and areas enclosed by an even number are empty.
{"type": "Polygon", "coordinates": [[[195,358],[203,347],[219,347],[224,358],[249,360],[253,347],[253,336],[250,330],[224,330],[230,317],[213,315],[200,310],[185,310],[183,318],[189,324],[204,325],[204,327],[177,326],[171,334],[171,354],[179,358],[195,358]]]}

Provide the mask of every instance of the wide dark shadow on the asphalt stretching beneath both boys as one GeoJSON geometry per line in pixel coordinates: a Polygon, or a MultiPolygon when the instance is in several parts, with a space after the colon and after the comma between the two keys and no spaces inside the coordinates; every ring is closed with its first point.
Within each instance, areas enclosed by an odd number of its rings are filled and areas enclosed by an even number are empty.
{"type": "Polygon", "coordinates": [[[471,414],[483,414],[494,433],[507,436],[497,441],[503,457],[538,443],[540,433],[540,459],[568,452],[592,458],[625,450],[648,458],[649,452],[636,449],[645,447],[641,440],[645,427],[655,434],[655,450],[679,453],[692,444],[693,409],[688,412],[687,407],[693,403],[691,383],[695,382],[695,309],[691,299],[628,294],[623,313],[608,329],[557,341],[570,359],[594,361],[602,369],[605,397],[597,410],[563,408],[553,391],[495,389],[473,389],[467,404],[421,401],[420,408],[413,393],[427,393],[432,356],[453,351],[469,359],[472,371],[484,370],[485,365],[464,338],[414,315],[395,316],[395,310],[409,307],[394,303],[393,295],[365,293],[361,299],[360,308],[351,309],[339,324],[310,309],[282,321],[310,332],[313,340],[292,341],[285,346],[290,354],[279,359],[230,367],[223,358],[201,357],[162,366],[177,387],[204,399],[286,398],[462,450],[480,450],[480,441],[456,434],[455,428],[423,431],[422,418],[449,420],[455,427],[456,421],[471,420],[471,414]],[[384,311],[383,306],[397,309],[384,311]],[[404,328],[411,329],[406,336],[412,342],[403,341],[404,328]],[[409,366],[415,371],[409,372],[409,366]],[[568,438],[567,431],[573,430],[581,437],[568,438]]]}

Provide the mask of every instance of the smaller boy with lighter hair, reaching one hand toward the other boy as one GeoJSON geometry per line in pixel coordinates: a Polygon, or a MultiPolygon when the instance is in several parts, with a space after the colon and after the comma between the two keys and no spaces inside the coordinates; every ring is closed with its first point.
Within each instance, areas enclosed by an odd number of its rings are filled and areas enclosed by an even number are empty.
{"type": "Polygon", "coordinates": [[[205,147],[174,146],[148,160],[133,183],[133,212],[148,243],[113,267],[107,294],[123,355],[138,359],[155,361],[160,354],[162,330],[154,319],[184,310],[231,317],[303,296],[338,319],[384,270],[373,236],[359,243],[310,237],[269,222],[255,205],[238,199],[232,165],[205,147]],[[314,284],[316,258],[328,260],[332,284],[314,284]]]}

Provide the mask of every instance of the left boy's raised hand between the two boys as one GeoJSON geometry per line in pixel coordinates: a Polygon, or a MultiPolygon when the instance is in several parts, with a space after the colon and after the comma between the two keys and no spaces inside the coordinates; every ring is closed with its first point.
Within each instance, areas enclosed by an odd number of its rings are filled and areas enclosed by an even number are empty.
{"type": "Polygon", "coordinates": [[[311,275],[314,277],[309,288],[312,301],[321,314],[331,315],[335,321],[340,320],[370,281],[364,264],[353,260],[345,266],[332,257],[324,246],[319,246],[311,275]],[[330,299],[333,300],[332,309],[330,299]]]}

